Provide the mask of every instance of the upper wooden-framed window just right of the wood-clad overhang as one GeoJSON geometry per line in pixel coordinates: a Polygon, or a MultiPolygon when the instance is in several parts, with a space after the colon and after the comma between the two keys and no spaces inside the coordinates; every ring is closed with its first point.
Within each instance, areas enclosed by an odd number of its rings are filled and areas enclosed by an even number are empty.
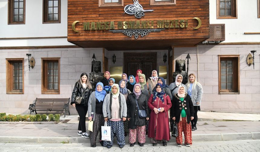
{"type": "Polygon", "coordinates": [[[237,0],[217,0],[217,19],[237,18],[237,0]]]}

